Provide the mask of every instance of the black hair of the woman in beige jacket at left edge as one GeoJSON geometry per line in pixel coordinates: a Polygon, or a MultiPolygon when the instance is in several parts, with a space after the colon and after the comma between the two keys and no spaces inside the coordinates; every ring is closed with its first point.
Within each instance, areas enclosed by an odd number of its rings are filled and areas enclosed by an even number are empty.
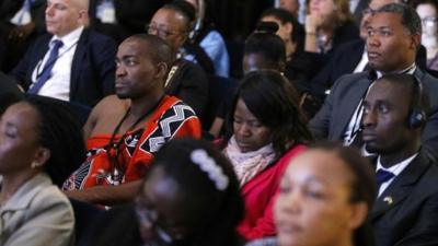
{"type": "Polygon", "coordinates": [[[39,116],[38,142],[50,151],[43,168],[55,185],[62,187],[64,181],[85,160],[81,126],[67,106],[51,98],[30,95],[22,102],[39,116]]]}

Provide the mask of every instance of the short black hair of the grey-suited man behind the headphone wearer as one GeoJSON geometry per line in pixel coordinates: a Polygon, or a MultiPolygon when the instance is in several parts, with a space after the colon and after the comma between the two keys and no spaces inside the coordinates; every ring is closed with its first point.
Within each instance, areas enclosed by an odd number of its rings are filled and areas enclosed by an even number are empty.
{"type": "Polygon", "coordinates": [[[422,35],[422,19],[414,8],[402,3],[389,3],[376,11],[376,13],[397,13],[402,16],[402,25],[411,34],[422,35]]]}

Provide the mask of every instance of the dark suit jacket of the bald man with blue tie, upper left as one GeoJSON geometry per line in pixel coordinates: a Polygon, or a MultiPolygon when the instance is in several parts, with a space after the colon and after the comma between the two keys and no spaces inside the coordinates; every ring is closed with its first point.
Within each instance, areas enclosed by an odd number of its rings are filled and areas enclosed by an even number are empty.
{"type": "MultiPolygon", "coordinates": [[[[12,70],[22,86],[32,84],[32,72],[48,50],[51,35],[39,37],[12,70]]],[[[94,106],[114,93],[116,45],[106,36],[84,30],[73,56],[70,77],[70,101],[94,106]]]]}

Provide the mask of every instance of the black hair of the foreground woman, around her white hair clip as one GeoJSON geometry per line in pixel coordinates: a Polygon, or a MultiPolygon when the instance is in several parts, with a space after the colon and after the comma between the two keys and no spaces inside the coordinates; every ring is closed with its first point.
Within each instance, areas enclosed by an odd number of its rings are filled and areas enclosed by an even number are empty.
{"type": "Polygon", "coordinates": [[[238,245],[241,238],[235,232],[235,226],[243,218],[243,200],[234,169],[219,149],[205,140],[171,140],[154,156],[142,187],[154,174],[155,168],[162,168],[166,177],[176,181],[178,191],[194,201],[198,214],[203,218],[203,221],[196,223],[201,227],[196,232],[197,235],[194,235],[196,244],[193,245],[238,245]],[[228,178],[226,188],[217,187],[214,177],[217,173],[206,172],[199,160],[193,160],[192,154],[199,150],[214,162],[215,168],[220,169],[228,178]]]}

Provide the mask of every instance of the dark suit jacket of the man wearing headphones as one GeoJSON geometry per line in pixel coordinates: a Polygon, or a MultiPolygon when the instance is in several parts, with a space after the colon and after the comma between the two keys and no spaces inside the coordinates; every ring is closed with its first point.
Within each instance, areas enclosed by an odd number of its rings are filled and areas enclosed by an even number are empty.
{"type": "Polygon", "coordinates": [[[438,245],[437,184],[438,167],[419,152],[369,213],[377,246],[438,245]]]}

